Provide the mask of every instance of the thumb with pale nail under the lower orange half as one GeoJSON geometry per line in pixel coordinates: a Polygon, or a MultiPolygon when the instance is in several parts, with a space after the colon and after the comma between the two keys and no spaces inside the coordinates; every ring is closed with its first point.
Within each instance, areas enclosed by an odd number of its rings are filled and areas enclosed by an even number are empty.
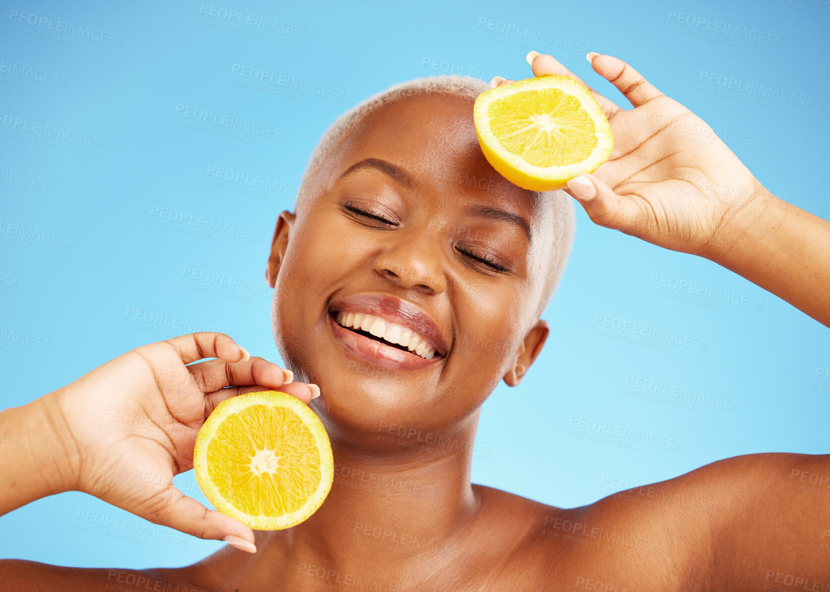
{"type": "Polygon", "coordinates": [[[156,497],[158,503],[143,517],[200,539],[224,540],[242,551],[256,552],[254,532],[222,512],[208,510],[193,497],[186,497],[170,485],[156,497]]]}

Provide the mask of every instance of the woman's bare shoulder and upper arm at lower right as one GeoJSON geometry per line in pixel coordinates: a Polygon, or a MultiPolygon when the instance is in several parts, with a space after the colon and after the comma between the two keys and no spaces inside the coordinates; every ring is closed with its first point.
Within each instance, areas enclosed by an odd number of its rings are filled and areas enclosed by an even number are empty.
{"type": "Polygon", "coordinates": [[[746,454],[588,506],[540,506],[523,555],[577,590],[759,590],[830,569],[830,455],[746,454]]]}

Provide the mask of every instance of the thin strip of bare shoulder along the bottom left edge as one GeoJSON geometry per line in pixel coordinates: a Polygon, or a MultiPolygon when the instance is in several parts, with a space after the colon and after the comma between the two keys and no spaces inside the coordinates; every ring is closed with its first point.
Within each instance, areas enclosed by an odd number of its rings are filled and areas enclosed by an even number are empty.
{"type": "Polygon", "coordinates": [[[15,592],[112,592],[130,589],[210,592],[188,582],[178,571],[64,567],[37,561],[0,560],[2,589],[15,592]]]}

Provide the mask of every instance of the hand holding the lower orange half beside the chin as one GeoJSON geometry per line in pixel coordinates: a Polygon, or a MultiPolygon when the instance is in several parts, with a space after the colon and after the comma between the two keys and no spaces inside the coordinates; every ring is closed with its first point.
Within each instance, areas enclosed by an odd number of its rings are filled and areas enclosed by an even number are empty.
{"type": "Polygon", "coordinates": [[[127,352],[43,397],[51,415],[62,418],[61,442],[71,457],[66,489],[253,552],[250,528],[185,497],[173,476],[193,468],[198,430],[222,400],[269,389],[305,404],[320,394],[315,385],[292,382],[291,371],[249,357],[223,333],[193,333],[127,352]],[[186,366],[204,357],[218,359],[186,366]]]}

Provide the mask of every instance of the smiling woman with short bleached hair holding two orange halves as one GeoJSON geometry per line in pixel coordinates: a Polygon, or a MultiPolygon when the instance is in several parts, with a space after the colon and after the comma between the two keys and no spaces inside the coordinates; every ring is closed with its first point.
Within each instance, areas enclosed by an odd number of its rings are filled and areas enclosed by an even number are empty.
{"type": "MultiPolygon", "coordinates": [[[[631,66],[593,53],[588,60],[634,107],[593,93],[616,146],[608,163],[569,182],[588,216],[713,260],[828,324],[828,222],[767,192],[725,144],[701,148],[694,136],[706,125],[631,66]]],[[[573,76],[551,56],[531,52],[528,61],[535,75],[573,76]]],[[[335,124],[311,159],[295,213],[277,221],[266,279],[275,287],[276,343],[291,371],[249,357],[230,337],[196,333],[139,347],[0,413],[0,433],[27,443],[0,449],[8,484],[0,512],[81,490],[231,545],[180,569],[6,560],[3,583],[240,592],[830,590],[822,546],[822,536],[830,541],[830,502],[818,486],[801,487],[813,476],[828,486],[825,455],[725,459],[573,509],[470,483],[481,403],[500,380],[518,385],[548,336],[539,315],[569,250],[570,214],[563,193],[522,190],[486,163],[471,118],[480,86],[457,78],[431,84],[403,85],[335,124]],[[387,335],[344,327],[339,313],[400,323],[424,345],[408,352],[384,344],[387,335]],[[218,359],[185,366],[204,357],[218,359]],[[191,468],[198,429],[220,400],[265,389],[305,403],[314,397],[336,477],[307,521],[254,533],[183,497],[171,480],[191,468]],[[107,413],[126,414],[137,427],[101,429],[107,413]],[[167,485],[149,491],[141,475],[167,485]],[[637,495],[663,503],[632,502],[637,495]],[[701,509],[689,499],[714,502],[701,509]]]]}

